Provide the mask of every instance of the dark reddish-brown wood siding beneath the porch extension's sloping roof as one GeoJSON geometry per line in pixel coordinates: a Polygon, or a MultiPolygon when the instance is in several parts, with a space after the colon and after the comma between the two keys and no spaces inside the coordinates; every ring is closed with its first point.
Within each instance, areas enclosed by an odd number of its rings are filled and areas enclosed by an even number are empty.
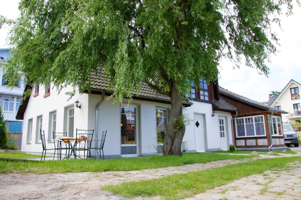
{"type": "Polygon", "coordinates": [[[220,94],[220,97],[225,100],[226,102],[230,103],[231,105],[235,106],[238,109],[238,114],[245,114],[245,113],[253,113],[253,112],[263,112],[264,109],[257,108],[255,106],[251,106],[247,103],[240,102],[236,99],[231,97],[225,96],[220,94]]]}

